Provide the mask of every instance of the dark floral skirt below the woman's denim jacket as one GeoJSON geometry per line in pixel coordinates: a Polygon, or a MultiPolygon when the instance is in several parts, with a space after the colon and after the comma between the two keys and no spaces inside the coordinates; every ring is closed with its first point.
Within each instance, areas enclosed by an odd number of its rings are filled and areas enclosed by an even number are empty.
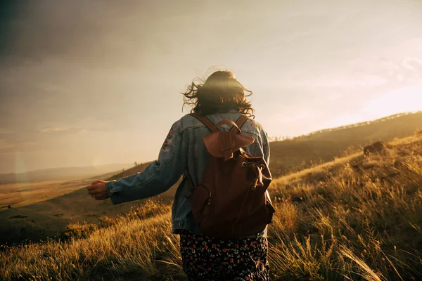
{"type": "Polygon", "coordinates": [[[182,230],[180,252],[188,280],[269,280],[266,237],[222,239],[182,230]]]}

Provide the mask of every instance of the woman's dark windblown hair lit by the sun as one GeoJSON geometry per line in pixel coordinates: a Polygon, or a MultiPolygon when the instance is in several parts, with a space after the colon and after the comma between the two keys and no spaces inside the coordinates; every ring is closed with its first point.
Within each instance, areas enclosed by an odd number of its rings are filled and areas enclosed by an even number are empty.
{"type": "Polygon", "coordinates": [[[252,95],[252,91],[246,89],[229,70],[216,71],[205,82],[186,86],[184,104],[191,105],[191,112],[200,115],[209,115],[215,112],[228,112],[237,110],[249,117],[255,117],[255,110],[246,97],[252,95]],[[245,95],[248,92],[248,95],[245,95]]]}

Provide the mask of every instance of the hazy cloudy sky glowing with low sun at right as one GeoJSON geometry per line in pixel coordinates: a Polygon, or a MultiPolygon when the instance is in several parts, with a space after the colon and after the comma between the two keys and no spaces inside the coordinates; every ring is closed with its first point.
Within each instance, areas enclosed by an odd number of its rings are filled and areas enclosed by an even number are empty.
{"type": "Polygon", "coordinates": [[[229,69],[269,136],[422,110],[422,1],[0,4],[0,173],[156,159],[229,69]]]}

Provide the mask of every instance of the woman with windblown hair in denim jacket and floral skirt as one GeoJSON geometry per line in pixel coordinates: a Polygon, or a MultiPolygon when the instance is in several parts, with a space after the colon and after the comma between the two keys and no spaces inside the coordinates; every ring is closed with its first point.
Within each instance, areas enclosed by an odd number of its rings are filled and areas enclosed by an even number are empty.
{"type": "MultiPolygon", "coordinates": [[[[192,83],[184,93],[184,105],[193,105],[193,112],[206,116],[213,124],[241,114],[254,117],[245,89],[231,71],[217,71],[203,84],[192,83]]],[[[222,124],[220,131],[229,131],[231,124],[222,124]]],[[[241,133],[255,138],[244,149],[254,157],[269,162],[267,133],[253,119],[242,126],[241,133]]],[[[113,204],[144,199],[168,190],[187,171],[196,186],[200,183],[210,155],[203,136],[210,131],[198,119],[185,115],[170,129],[158,160],[142,173],[118,181],[98,181],[87,187],[96,200],[110,197],[113,204]]],[[[189,202],[190,188],[184,179],[177,188],[172,206],[172,231],[180,235],[180,251],[184,272],[189,280],[269,280],[267,262],[267,228],[262,233],[241,238],[208,237],[201,234],[189,202]]]]}

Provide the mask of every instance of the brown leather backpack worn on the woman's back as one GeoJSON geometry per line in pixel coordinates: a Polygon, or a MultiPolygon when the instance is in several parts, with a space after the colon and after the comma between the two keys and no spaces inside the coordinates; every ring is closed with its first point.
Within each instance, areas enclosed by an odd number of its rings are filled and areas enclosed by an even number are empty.
{"type": "Polygon", "coordinates": [[[211,133],[203,137],[210,153],[202,181],[194,186],[186,171],[193,218],[202,234],[212,237],[246,237],[264,231],[275,212],[267,192],[271,173],[262,157],[252,157],[243,148],[255,141],[241,134],[248,117],[231,124],[231,131],[219,131],[207,117],[191,114],[211,133]]]}

